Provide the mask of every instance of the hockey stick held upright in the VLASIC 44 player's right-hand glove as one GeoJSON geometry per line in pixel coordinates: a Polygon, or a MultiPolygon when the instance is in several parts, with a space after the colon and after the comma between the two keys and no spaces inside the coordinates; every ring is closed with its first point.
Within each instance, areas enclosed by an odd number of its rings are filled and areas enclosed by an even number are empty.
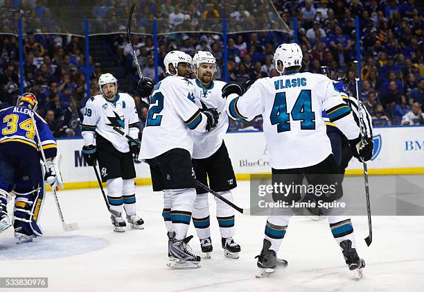
{"type": "MultiPolygon", "coordinates": [[[[355,65],[355,83],[356,83],[356,98],[359,103],[360,101],[360,75],[359,75],[359,65],[357,61],[353,61],[355,65]]],[[[360,132],[362,136],[362,142],[364,142],[364,117],[362,114],[361,107],[358,107],[358,112],[360,114],[360,132]]],[[[362,161],[362,166],[364,167],[364,181],[365,181],[365,198],[366,198],[366,214],[368,216],[368,237],[366,237],[365,242],[367,246],[371,245],[373,241],[373,227],[371,225],[371,205],[369,203],[369,184],[368,184],[368,167],[366,162],[362,161]]]]}

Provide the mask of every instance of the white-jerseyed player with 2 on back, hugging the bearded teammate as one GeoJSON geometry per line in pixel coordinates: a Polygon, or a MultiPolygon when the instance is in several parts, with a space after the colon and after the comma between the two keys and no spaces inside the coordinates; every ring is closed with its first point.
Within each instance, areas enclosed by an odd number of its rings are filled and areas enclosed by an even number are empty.
{"type": "Polygon", "coordinates": [[[191,156],[193,132],[209,132],[218,123],[215,109],[195,105],[188,79],[191,57],[170,51],[164,59],[168,76],[154,86],[141,141],[141,158],[150,166],[153,191],[164,191],[162,213],[168,231],[168,266],[200,267],[186,237],[196,198],[191,156]]]}

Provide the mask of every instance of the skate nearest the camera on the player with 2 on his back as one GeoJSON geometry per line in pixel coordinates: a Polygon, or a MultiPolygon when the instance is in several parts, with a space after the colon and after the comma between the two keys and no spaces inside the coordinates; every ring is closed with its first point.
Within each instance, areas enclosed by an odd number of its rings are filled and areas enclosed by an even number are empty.
{"type": "Polygon", "coordinates": [[[186,237],[183,240],[170,239],[170,259],[168,259],[166,266],[171,268],[200,268],[200,257],[193,255],[191,247],[188,246],[188,241],[192,238],[193,236],[186,237]]]}

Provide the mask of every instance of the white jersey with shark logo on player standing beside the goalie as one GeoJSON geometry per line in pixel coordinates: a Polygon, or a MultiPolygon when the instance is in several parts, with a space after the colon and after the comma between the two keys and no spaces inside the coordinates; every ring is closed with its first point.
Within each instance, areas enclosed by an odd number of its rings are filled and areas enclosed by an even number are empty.
{"type": "Polygon", "coordinates": [[[92,96],[85,105],[82,121],[82,137],[85,145],[95,144],[94,132],[112,143],[116,150],[130,151],[128,139],[116,132],[121,128],[126,135],[137,139],[139,135],[139,115],[134,99],[126,93],[116,94],[114,102],[107,101],[103,94],[92,96]]]}

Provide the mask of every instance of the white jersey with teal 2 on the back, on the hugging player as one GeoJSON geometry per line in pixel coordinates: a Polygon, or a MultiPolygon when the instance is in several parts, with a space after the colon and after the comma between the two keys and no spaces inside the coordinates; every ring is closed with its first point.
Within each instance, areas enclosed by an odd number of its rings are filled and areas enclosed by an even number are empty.
{"type": "Polygon", "coordinates": [[[174,148],[193,154],[193,130],[206,132],[206,116],[195,105],[193,81],[167,76],[154,85],[140,157],[154,158],[174,148]]]}

